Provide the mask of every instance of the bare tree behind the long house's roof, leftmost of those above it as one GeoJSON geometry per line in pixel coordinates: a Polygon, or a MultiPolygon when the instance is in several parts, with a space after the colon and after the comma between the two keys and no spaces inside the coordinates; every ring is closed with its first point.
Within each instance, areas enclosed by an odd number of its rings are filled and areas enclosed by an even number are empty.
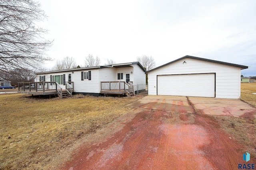
{"type": "Polygon", "coordinates": [[[62,60],[57,60],[52,70],[66,70],[76,68],[76,61],[73,57],[64,57],[62,60]]]}

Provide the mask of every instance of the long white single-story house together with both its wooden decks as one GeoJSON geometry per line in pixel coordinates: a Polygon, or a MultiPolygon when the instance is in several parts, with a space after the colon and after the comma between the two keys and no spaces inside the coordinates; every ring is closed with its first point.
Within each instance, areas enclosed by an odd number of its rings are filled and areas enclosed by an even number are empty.
{"type": "MultiPolygon", "coordinates": [[[[137,91],[146,90],[146,70],[139,62],[111,64],[56,70],[36,73],[35,89],[26,89],[30,84],[20,83],[20,93],[48,95],[50,91],[69,91],[69,94],[101,96],[117,94],[131,96],[137,91]],[[137,84],[144,84],[139,86],[137,84]],[[58,90],[59,89],[59,90],[58,90]],[[60,90],[61,89],[61,90],[60,90]],[[71,89],[71,90],[67,90],[71,89]],[[36,90],[36,92],[34,92],[36,90]]],[[[62,95],[61,95],[62,96],[62,95]]]]}

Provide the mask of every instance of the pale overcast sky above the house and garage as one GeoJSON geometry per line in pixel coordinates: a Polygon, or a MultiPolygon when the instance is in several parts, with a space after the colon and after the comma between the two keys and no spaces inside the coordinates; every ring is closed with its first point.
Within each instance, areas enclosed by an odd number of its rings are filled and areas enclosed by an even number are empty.
{"type": "MultiPolygon", "coordinates": [[[[47,55],[88,54],[116,63],[154,57],[156,66],[185,55],[250,66],[256,75],[256,0],[40,0],[53,40],[47,55]]],[[[52,62],[53,63],[53,62],[52,62]]],[[[48,66],[51,64],[48,63],[48,66]]]]}

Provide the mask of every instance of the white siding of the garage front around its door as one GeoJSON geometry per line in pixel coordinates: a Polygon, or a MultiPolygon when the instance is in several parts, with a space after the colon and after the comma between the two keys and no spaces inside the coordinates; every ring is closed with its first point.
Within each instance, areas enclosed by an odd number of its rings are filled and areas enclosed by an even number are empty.
{"type": "Polygon", "coordinates": [[[157,75],[216,73],[216,98],[240,98],[240,68],[185,58],[148,73],[148,94],[157,95],[157,75]],[[183,62],[186,63],[183,64],[183,62]]]}

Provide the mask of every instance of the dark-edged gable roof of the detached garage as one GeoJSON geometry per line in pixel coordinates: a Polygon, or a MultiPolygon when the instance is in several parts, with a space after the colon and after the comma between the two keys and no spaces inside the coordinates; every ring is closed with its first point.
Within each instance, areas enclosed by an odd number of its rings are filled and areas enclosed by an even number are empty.
{"type": "Polygon", "coordinates": [[[202,61],[209,61],[209,62],[213,62],[213,63],[225,64],[225,65],[230,65],[230,66],[236,66],[236,67],[240,67],[240,68],[242,68],[242,69],[248,68],[248,66],[243,66],[243,65],[239,65],[239,64],[226,63],[226,62],[222,62],[222,61],[216,61],[216,60],[210,60],[210,59],[204,59],[204,58],[200,58],[200,57],[194,57],[194,56],[186,55],[186,56],[184,56],[184,57],[181,57],[181,58],[179,58],[179,59],[176,59],[176,60],[174,60],[174,61],[171,61],[171,62],[169,62],[169,63],[166,63],[166,64],[164,64],[164,65],[162,65],[162,66],[158,66],[158,67],[156,67],[156,68],[153,68],[152,70],[149,70],[149,71],[147,71],[146,73],[151,72],[151,71],[153,71],[153,70],[156,70],[156,69],[158,69],[158,68],[161,68],[161,67],[163,67],[163,66],[166,66],[166,65],[168,65],[168,64],[172,64],[172,63],[174,63],[174,62],[176,62],[176,61],[179,61],[179,60],[182,60],[182,59],[185,59],[185,58],[197,59],[197,60],[202,60],[202,61]]]}

